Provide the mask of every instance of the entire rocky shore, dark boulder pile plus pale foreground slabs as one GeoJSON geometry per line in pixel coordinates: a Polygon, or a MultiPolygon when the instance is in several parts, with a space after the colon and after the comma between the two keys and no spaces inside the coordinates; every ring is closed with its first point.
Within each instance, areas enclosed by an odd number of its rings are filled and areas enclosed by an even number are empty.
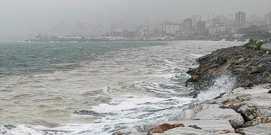
{"type": "Polygon", "coordinates": [[[195,99],[179,114],[112,135],[271,135],[270,54],[233,46],[218,49],[197,62],[199,67],[187,71],[191,78],[186,84],[195,89],[190,96],[219,92],[212,95],[214,98],[195,99]],[[210,91],[216,79],[224,81],[225,75],[230,76],[227,83],[233,83],[210,91]]]}

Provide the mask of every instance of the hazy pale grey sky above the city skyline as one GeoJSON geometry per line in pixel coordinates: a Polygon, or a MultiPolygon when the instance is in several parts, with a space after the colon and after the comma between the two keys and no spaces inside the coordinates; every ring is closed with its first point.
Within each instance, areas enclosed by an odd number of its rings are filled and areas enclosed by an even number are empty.
{"type": "Polygon", "coordinates": [[[209,12],[216,14],[243,11],[263,17],[271,7],[271,0],[0,0],[0,33],[22,34],[31,27],[67,25],[76,22],[109,24],[110,22],[142,23],[170,19],[172,21],[209,12]]]}

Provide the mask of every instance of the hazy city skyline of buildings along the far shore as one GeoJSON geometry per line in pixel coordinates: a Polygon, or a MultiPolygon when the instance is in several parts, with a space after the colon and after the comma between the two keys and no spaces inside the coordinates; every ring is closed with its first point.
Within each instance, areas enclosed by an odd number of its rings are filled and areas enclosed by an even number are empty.
{"type": "Polygon", "coordinates": [[[49,25],[46,28],[32,28],[31,33],[40,33],[42,35],[53,35],[65,37],[67,35],[87,36],[122,36],[122,37],[195,37],[209,36],[221,37],[234,34],[245,34],[245,31],[263,30],[271,33],[271,11],[265,13],[263,17],[256,14],[246,16],[245,12],[237,11],[235,14],[216,14],[208,13],[207,19],[203,20],[200,14],[193,14],[190,18],[179,20],[177,22],[156,21],[151,22],[145,19],[140,25],[111,22],[109,25],[99,23],[97,25],[88,25],[78,22],[74,26],[67,25],[65,20],[61,20],[59,25],[49,25]],[[249,18],[249,19],[248,19],[249,18]]]}

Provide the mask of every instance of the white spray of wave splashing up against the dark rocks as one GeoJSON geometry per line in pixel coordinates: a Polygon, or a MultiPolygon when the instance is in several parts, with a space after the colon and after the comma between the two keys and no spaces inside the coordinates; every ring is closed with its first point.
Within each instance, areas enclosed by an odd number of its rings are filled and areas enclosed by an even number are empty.
{"type": "Polygon", "coordinates": [[[236,84],[236,76],[230,71],[224,71],[221,75],[213,77],[212,80],[213,85],[203,88],[204,91],[198,94],[198,99],[212,99],[221,92],[232,91],[236,84]]]}

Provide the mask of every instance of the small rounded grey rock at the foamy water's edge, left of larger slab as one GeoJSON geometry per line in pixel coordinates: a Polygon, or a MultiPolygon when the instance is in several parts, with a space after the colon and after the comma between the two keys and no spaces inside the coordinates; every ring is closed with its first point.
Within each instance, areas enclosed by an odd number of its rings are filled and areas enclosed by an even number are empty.
{"type": "Polygon", "coordinates": [[[195,112],[193,110],[187,109],[182,111],[180,114],[177,114],[171,118],[166,119],[165,121],[184,121],[184,120],[192,120],[195,116],[195,112]]]}

